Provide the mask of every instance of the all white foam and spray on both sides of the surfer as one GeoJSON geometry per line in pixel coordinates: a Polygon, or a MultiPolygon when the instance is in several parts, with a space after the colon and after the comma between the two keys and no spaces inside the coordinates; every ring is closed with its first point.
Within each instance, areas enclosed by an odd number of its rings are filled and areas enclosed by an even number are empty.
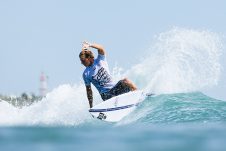
{"type": "MultiPolygon", "coordinates": [[[[129,77],[140,89],[155,94],[201,91],[217,84],[222,69],[221,52],[221,38],[216,33],[176,27],[160,33],[146,57],[131,69],[122,73],[121,68],[114,68],[113,77],[129,77]]],[[[95,89],[94,100],[95,104],[101,102],[95,89]]],[[[1,101],[0,126],[92,124],[88,107],[82,83],[64,84],[22,109],[1,101]]],[[[149,108],[142,108],[142,112],[149,108]]]]}

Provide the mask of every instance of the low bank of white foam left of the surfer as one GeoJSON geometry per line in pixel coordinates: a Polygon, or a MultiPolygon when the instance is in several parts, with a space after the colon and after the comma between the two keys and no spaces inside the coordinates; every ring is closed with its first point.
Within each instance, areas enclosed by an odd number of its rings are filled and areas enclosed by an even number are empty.
{"type": "Polygon", "coordinates": [[[67,125],[91,118],[83,85],[61,85],[31,106],[16,108],[5,101],[0,104],[0,125],[67,125]],[[84,94],[84,95],[82,95],[84,94]]]}

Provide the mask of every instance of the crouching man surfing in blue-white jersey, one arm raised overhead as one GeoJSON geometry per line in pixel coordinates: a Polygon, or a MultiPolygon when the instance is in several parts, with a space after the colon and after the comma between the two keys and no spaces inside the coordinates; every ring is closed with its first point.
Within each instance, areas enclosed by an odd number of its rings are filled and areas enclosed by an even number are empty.
{"type": "Polygon", "coordinates": [[[105,101],[114,96],[136,90],[136,86],[127,78],[115,83],[110,75],[106,52],[99,44],[83,42],[82,51],[79,54],[81,63],[86,67],[83,72],[83,80],[86,86],[87,98],[90,108],[93,107],[93,92],[91,83],[99,91],[101,98],[105,101]],[[97,49],[98,56],[94,58],[90,48],[97,49]]]}

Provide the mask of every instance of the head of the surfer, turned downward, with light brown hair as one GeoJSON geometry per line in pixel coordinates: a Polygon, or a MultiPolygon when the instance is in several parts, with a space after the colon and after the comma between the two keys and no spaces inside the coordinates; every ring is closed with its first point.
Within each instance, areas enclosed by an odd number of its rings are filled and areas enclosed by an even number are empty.
{"type": "Polygon", "coordinates": [[[79,58],[85,67],[91,66],[94,62],[94,55],[90,50],[82,50],[79,54],[79,58]]]}

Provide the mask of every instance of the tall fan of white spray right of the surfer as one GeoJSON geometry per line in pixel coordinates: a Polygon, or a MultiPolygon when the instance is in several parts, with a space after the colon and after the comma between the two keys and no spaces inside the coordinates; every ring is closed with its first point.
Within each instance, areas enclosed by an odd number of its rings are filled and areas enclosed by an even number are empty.
{"type": "Polygon", "coordinates": [[[159,34],[143,61],[125,75],[154,93],[200,91],[217,84],[221,51],[215,33],[174,28],[159,34]]]}

